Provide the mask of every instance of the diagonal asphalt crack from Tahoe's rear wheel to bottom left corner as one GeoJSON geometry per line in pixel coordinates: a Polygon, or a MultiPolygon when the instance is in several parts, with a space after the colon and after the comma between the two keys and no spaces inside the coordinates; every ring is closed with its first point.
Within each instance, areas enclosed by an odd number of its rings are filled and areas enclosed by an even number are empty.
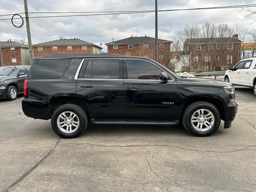
{"type": "Polygon", "coordinates": [[[8,190],[10,190],[10,188],[16,186],[18,183],[20,183],[22,180],[24,180],[24,178],[26,178],[34,169],[36,169],[40,163],[42,163],[50,154],[52,154],[52,151],[56,148],[60,139],[61,138],[59,138],[57,140],[54,147],[42,159],[40,159],[32,168],[30,168],[26,173],[24,173],[20,178],[18,178],[18,180],[14,181],[12,184],[7,186],[6,189],[3,190],[3,192],[7,192],[8,190]]]}

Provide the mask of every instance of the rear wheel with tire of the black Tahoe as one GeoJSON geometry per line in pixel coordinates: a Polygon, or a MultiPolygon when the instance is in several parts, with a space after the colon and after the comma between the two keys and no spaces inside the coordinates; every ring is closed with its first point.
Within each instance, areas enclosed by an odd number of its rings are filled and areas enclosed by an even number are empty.
{"type": "Polygon", "coordinates": [[[52,129],[63,138],[76,138],[82,134],[88,124],[86,112],[75,104],[64,104],[52,114],[52,129]]]}

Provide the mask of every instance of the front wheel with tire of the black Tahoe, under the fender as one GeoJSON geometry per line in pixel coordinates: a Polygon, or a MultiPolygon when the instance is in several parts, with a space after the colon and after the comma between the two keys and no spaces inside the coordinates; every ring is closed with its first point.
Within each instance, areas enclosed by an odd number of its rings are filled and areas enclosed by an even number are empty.
{"type": "Polygon", "coordinates": [[[210,136],[218,130],[220,120],[220,112],[213,104],[194,102],[184,110],[182,124],[194,136],[210,136]]]}

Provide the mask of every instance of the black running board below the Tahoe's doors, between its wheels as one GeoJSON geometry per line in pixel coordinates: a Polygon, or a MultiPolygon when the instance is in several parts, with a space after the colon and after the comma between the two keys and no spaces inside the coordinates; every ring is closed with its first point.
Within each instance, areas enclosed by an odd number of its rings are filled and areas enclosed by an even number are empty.
{"type": "Polygon", "coordinates": [[[93,124],[132,124],[132,125],[177,125],[178,122],[164,121],[164,120],[105,120],[105,119],[91,119],[93,124]]]}

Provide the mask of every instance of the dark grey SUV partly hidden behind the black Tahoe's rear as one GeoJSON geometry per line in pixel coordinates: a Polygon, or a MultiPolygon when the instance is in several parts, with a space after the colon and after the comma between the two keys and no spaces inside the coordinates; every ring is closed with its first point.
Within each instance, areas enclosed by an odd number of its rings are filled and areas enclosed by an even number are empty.
{"type": "Polygon", "coordinates": [[[23,92],[24,80],[30,66],[3,66],[0,67],[0,98],[15,100],[18,93],[23,92]]]}

